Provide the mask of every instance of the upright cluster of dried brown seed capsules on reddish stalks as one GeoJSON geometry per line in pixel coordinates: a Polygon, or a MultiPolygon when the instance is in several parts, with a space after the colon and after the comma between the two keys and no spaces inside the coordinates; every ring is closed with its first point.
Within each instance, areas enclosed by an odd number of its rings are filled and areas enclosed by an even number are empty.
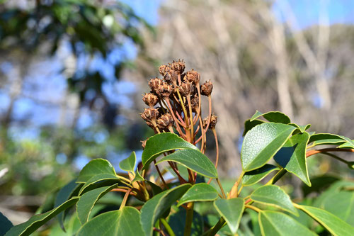
{"type": "MultiPolygon", "coordinates": [[[[155,133],[171,132],[193,143],[202,142],[205,148],[205,133],[215,129],[217,117],[211,113],[212,82],[200,85],[200,74],[191,69],[185,71],[183,60],[173,61],[159,67],[162,79],[149,80],[151,91],[142,100],[149,108],[144,108],[142,118],[155,133]],[[200,96],[207,96],[209,112],[201,118],[200,96]]],[[[145,142],[143,142],[143,148],[145,142]]]]}

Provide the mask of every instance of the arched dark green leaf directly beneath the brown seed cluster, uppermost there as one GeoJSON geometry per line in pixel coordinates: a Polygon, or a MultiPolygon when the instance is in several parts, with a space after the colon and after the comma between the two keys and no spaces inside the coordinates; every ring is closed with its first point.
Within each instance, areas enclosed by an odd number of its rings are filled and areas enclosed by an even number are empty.
{"type": "Polygon", "coordinates": [[[150,137],[142,152],[143,169],[146,169],[161,153],[176,149],[198,150],[198,147],[173,133],[160,133],[150,137]]]}

